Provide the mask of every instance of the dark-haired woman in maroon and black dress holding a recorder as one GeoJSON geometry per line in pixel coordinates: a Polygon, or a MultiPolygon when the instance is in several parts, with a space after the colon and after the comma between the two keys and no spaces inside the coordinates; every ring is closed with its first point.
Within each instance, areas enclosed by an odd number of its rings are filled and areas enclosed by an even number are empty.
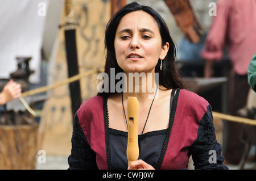
{"type": "Polygon", "coordinates": [[[86,100],[75,115],[69,169],[186,169],[191,154],[195,169],[227,169],[211,108],[185,90],[175,68],[175,45],[160,15],[138,3],[126,5],[108,23],[105,46],[109,79],[100,86],[104,91],[86,100]],[[139,81],[131,78],[136,73],[143,75],[139,81]],[[136,96],[140,104],[139,159],[130,165],[128,96],[136,96]],[[214,163],[210,150],[215,151],[214,163]]]}

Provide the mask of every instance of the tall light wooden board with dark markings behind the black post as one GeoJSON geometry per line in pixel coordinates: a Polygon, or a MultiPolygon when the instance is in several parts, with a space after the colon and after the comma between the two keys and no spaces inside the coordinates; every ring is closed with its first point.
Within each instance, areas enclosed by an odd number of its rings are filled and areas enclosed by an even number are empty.
{"type": "MultiPolygon", "coordinates": [[[[76,0],[73,19],[79,22],[76,28],[77,57],[80,73],[91,68],[104,66],[104,36],[106,23],[110,18],[109,1],[76,0]]],[[[64,10],[60,24],[64,24],[64,10]]],[[[49,84],[68,78],[65,55],[64,28],[59,30],[56,48],[52,53],[49,84]]],[[[97,74],[80,79],[82,101],[96,95],[97,74]]],[[[73,131],[73,115],[68,85],[48,92],[44,103],[38,130],[38,150],[47,154],[69,155],[73,131]]]]}

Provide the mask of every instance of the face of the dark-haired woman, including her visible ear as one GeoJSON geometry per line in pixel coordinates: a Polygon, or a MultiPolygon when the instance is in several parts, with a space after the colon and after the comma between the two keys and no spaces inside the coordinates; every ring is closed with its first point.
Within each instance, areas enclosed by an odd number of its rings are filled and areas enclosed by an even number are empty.
{"type": "Polygon", "coordinates": [[[155,72],[159,58],[164,59],[169,44],[162,46],[158,24],[144,11],[123,16],[114,40],[115,56],[125,72],[155,72]]]}

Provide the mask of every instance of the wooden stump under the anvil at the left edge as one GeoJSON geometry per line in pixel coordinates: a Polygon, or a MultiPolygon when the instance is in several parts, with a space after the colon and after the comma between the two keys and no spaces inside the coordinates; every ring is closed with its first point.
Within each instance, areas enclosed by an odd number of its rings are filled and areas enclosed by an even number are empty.
{"type": "Polygon", "coordinates": [[[37,124],[0,125],[0,170],[36,169],[37,124]]]}

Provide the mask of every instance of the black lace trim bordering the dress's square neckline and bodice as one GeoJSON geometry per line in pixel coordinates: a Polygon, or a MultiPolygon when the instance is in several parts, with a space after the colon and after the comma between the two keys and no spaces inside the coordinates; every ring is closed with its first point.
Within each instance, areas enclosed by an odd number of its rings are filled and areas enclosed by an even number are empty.
{"type": "MultiPolygon", "coordinates": [[[[168,142],[170,140],[172,125],[174,124],[174,117],[175,117],[175,112],[176,112],[177,99],[179,98],[180,89],[177,89],[175,95],[174,95],[174,92],[175,92],[175,89],[172,90],[172,93],[171,93],[170,117],[169,117],[168,128],[158,130],[158,131],[151,131],[151,132],[147,132],[147,133],[143,133],[143,134],[139,135],[139,137],[141,137],[141,139],[143,139],[144,137],[148,137],[151,134],[157,134],[157,133],[163,134],[163,132],[165,132],[165,134],[166,134],[166,138],[164,139],[164,143],[163,143],[163,146],[162,146],[162,149],[161,149],[160,157],[158,159],[158,162],[155,165],[155,169],[160,169],[160,167],[163,163],[163,158],[164,158],[164,155],[166,154],[168,142]],[[173,98],[172,98],[172,96],[173,96],[173,98]]],[[[104,113],[104,125],[105,125],[106,159],[107,159],[107,163],[108,163],[108,168],[112,169],[113,167],[111,165],[109,134],[111,132],[111,133],[115,133],[115,134],[120,135],[120,136],[127,136],[127,132],[119,131],[119,130],[113,129],[113,128],[109,128],[109,112],[108,112],[107,101],[108,101],[108,96],[104,96],[104,98],[103,98],[103,113],[104,113]]]]}

